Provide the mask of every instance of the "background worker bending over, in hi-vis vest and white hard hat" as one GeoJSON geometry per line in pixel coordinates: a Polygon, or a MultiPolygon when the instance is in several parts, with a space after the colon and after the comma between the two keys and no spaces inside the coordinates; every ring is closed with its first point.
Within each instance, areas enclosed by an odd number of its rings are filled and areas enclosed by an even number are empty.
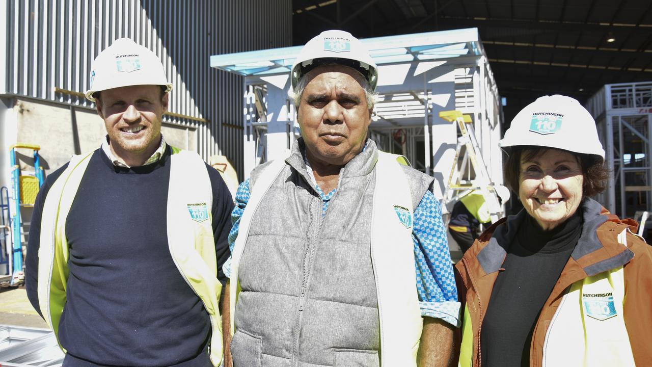
{"type": "MultiPolygon", "coordinates": [[[[496,185],[496,194],[502,204],[509,200],[509,189],[503,185],[496,185]]],[[[489,223],[491,217],[489,209],[480,191],[473,190],[456,202],[451,210],[449,220],[449,233],[465,253],[481,232],[481,223],[489,223]]]]}

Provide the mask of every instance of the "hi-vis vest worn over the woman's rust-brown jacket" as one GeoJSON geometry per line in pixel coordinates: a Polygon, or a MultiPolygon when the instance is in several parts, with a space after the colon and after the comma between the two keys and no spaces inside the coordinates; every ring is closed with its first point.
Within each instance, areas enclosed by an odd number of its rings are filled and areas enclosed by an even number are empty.
{"type": "MultiPolygon", "coordinates": [[[[627,229],[618,234],[618,242],[627,247],[627,229]]],[[[571,285],[546,330],[542,366],[629,367],[635,366],[629,334],[623,318],[625,279],[623,266],[576,281],[571,285]],[[584,295],[600,295],[615,308],[598,313],[596,318],[591,299],[584,295]],[[612,297],[612,298],[610,298],[612,297]]],[[[608,304],[602,306],[608,307],[608,304]]],[[[597,305],[600,306],[600,305],[597,305]]],[[[462,347],[459,366],[471,366],[473,356],[471,316],[464,308],[462,347]]]]}

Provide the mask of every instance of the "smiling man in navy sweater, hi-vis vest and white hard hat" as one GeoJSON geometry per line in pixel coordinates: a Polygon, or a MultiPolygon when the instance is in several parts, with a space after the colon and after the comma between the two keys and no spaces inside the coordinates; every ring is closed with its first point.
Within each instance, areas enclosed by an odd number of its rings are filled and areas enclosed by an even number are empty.
{"type": "Polygon", "coordinates": [[[38,193],[29,300],[67,353],[64,366],[218,366],[229,190],[161,135],[172,85],[153,52],[118,39],[92,69],[86,97],[106,140],[38,193]]]}

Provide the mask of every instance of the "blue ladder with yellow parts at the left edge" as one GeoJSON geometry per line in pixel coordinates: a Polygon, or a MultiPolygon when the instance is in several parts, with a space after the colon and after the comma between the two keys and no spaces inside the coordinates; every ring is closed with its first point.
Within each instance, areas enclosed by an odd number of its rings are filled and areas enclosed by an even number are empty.
{"type": "Polygon", "coordinates": [[[22,229],[23,225],[29,225],[29,223],[23,223],[21,220],[21,208],[34,206],[38,189],[45,181],[43,167],[40,167],[38,150],[40,150],[40,146],[34,144],[15,144],[9,150],[12,199],[14,199],[15,204],[15,210],[11,217],[12,253],[8,254],[11,257],[9,271],[11,275],[10,285],[12,286],[19,285],[25,280],[25,272],[23,272],[22,229]],[[16,149],[19,148],[32,150],[34,157],[33,172],[23,172],[20,169],[20,165],[18,165],[18,160],[16,159],[16,149]]]}

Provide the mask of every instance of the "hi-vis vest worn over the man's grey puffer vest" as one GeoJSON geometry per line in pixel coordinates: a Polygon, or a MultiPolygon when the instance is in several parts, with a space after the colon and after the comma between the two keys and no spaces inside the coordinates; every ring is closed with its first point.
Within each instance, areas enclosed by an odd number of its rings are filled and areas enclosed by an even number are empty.
{"type": "MultiPolygon", "coordinates": [[[[398,221],[394,206],[402,206],[413,215],[408,180],[400,167],[404,157],[378,152],[376,188],[372,212],[371,257],[380,321],[380,360],[382,366],[416,366],[423,321],[415,287],[415,261],[412,226],[398,221]]],[[[254,183],[240,230],[231,253],[231,335],[235,333],[235,304],[241,291],[237,282],[240,259],[261,199],[282,170],[285,159],[269,164],[254,183]]],[[[412,219],[410,219],[412,221],[412,219]]],[[[410,223],[411,224],[411,223],[410,223]]]]}

